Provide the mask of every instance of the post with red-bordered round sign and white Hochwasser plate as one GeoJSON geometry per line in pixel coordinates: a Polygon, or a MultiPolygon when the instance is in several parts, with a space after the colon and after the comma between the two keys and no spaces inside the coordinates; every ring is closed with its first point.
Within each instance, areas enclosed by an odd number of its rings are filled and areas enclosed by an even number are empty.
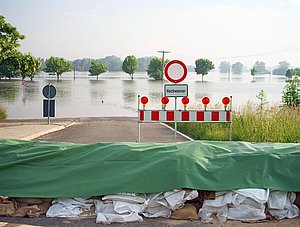
{"type": "MultiPolygon", "coordinates": [[[[165,67],[165,75],[168,81],[174,83],[175,85],[166,84],[165,85],[165,94],[166,97],[175,97],[175,113],[177,113],[177,97],[185,97],[188,93],[187,84],[179,85],[187,76],[187,67],[186,65],[179,60],[173,60],[167,63],[165,67]],[[171,88],[172,87],[172,88],[171,88]]],[[[175,141],[177,139],[177,120],[175,117],[175,141]]]]}

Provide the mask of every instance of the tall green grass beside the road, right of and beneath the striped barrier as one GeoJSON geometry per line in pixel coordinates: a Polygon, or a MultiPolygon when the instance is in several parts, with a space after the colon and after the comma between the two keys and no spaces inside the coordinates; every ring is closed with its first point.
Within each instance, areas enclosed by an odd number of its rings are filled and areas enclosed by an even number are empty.
{"type": "MultiPolygon", "coordinates": [[[[300,143],[300,108],[247,104],[233,111],[232,140],[300,143]]],[[[178,123],[178,131],[195,140],[229,140],[229,123],[178,123]]]]}

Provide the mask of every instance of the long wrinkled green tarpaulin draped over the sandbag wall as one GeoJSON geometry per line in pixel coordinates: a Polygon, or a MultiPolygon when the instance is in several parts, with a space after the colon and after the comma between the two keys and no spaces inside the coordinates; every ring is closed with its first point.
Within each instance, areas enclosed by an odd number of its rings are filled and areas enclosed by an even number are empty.
{"type": "Polygon", "coordinates": [[[300,144],[0,140],[0,195],[73,198],[174,188],[300,191],[300,144]]]}

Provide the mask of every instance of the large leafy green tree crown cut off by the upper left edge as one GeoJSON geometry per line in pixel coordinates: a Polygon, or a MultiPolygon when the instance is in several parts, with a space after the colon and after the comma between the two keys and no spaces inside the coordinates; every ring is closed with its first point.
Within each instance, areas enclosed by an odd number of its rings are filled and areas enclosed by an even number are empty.
{"type": "Polygon", "coordinates": [[[0,15],[0,66],[4,60],[15,57],[20,46],[19,42],[24,38],[24,35],[21,35],[15,27],[5,21],[4,16],[0,15]]]}

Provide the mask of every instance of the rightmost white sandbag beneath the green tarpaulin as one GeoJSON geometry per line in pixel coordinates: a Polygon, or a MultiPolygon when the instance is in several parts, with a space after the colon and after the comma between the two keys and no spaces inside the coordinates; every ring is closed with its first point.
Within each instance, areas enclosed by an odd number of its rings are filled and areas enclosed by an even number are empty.
{"type": "Polygon", "coordinates": [[[269,212],[277,219],[295,218],[299,216],[299,208],[293,204],[294,192],[271,191],[268,200],[269,212]]]}

